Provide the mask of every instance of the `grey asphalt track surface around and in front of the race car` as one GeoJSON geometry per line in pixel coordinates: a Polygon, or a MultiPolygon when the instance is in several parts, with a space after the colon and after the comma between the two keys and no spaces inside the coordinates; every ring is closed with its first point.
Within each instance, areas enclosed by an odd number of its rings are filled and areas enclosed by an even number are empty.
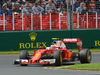
{"type": "MultiPolygon", "coordinates": [[[[18,55],[0,55],[0,75],[100,75],[100,71],[44,69],[44,67],[49,66],[42,65],[28,65],[27,67],[21,67],[20,65],[13,65],[13,61],[16,58],[18,58],[18,55]]],[[[99,53],[92,54],[92,63],[100,63],[99,53]]]]}

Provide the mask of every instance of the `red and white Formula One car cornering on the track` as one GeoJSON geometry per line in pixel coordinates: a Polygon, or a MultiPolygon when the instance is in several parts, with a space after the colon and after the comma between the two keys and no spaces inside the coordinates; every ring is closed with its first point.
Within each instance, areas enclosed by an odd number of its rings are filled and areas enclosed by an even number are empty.
{"type": "Polygon", "coordinates": [[[89,49],[82,49],[81,39],[62,39],[53,41],[52,45],[46,49],[34,50],[33,54],[29,54],[27,50],[22,50],[19,59],[15,60],[14,64],[20,64],[21,66],[27,66],[28,64],[55,64],[60,66],[63,62],[74,61],[76,58],[81,63],[90,63],[91,52],[89,49]],[[65,43],[77,43],[78,52],[72,52],[65,43]]]}

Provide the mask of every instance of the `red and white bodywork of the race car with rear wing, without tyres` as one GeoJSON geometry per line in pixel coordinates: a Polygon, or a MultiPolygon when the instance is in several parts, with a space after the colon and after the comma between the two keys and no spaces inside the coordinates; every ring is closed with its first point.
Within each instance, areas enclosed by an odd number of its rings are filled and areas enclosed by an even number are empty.
{"type": "Polygon", "coordinates": [[[70,60],[72,56],[75,56],[76,53],[72,53],[71,50],[67,49],[65,47],[65,43],[77,43],[78,46],[78,52],[82,49],[82,40],[81,39],[63,39],[60,41],[57,41],[56,44],[51,45],[50,47],[46,49],[39,49],[36,52],[34,51],[34,56],[30,59],[29,64],[48,64],[49,62],[42,62],[41,57],[44,54],[52,54],[54,51],[61,51],[62,52],[62,59],[63,60],[70,60]]]}

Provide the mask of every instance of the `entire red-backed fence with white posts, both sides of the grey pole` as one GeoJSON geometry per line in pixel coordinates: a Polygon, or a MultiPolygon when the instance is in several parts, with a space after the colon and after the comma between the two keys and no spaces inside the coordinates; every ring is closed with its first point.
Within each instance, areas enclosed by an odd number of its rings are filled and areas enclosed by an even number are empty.
{"type": "MultiPolygon", "coordinates": [[[[0,16],[0,31],[68,29],[67,15],[5,15],[0,16]]],[[[73,26],[73,27],[72,27],[73,26]]],[[[100,29],[100,15],[76,14],[73,29],[100,29]]]]}

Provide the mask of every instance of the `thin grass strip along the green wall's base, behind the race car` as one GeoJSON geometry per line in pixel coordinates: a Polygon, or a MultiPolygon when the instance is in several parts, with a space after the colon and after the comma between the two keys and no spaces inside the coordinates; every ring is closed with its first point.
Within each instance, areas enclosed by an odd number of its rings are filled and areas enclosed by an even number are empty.
{"type": "MultiPolygon", "coordinates": [[[[77,52],[77,49],[72,49],[72,51],[77,52]]],[[[99,48],[96,49],[90,49],[91,52],[100,52],[99,48]]],[[[29,53],[33,53],[34,50],[28,50],[29,53]]],[[[16,50],[16,51],[0,51],[0,55],[4,55],[4,54],[20,54],[20,50],[16,50]]]]}

